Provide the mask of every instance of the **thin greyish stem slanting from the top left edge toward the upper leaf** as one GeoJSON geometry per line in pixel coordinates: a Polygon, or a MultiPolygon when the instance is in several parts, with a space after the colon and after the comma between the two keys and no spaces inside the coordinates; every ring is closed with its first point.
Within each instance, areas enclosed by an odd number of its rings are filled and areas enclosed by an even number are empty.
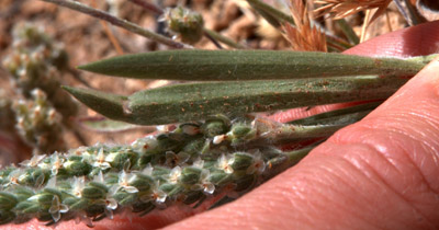
{"type": "Polygon", "coordinates": [[[157,43],[161,43],[161,44],[168,45],[168,46],[173,47],[173,48],[188,48],[188,49],[193,48],[190,45],[176,42],[176,41],[173,41],[171,38],[168,38],[166,36],[160,35],[160,34],[157,34],[157,33],[154,33],[151,31],[145,30],[145,28],[132,23],[132,22],[128,22],[126,20],[121,20],[121,19],[119,19],[116,16],[113,16],[113,15],[111,15],[111,14],[104,12],[104,11],[90,8],[90,7],[86,5],[86,4],[82,4],[82,3],[77,2],[77,1],[71,1],[71,0],[42,0],[42,1],[55,3],[55,4],[58,4],[60,7],[65,7],[65,8],[75,10],[75,11],[79,11],[79,12],[85,13],[85,14],[89,14],[89,15],[94,16],[97,19],[104,20],[104,21],[106,21],[106,22],[109,22],[109,23],[111,23],[111,24],[113,24],[115,26],[125,28],[125,30],[127,30],[130,32],[133,32],[135,34],[142,35],[142,36],[147,37],[149,39],[153,39],[153,41],[155,41],[157,43]]]}

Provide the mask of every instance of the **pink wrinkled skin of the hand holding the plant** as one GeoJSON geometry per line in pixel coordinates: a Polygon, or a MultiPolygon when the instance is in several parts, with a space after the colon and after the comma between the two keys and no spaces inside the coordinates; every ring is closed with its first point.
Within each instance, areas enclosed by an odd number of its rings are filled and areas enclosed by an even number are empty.
{"type": "MultiPolygon", "coordinates": [[[[439,22],[431,22],[376,37],[346,54],[408,57],[438,50],[439,22]]],[[[293,110],[273,118],[284,122],[342,106],[293,110]]],[[[132,222],[117,217],[95,229],[438,229],[438,175],[436,59],[364,119],[236,202],[189,218],[199,210],[173,208],[132,222]]],[[[59,228],[87,227],[70,221],[59,228]]],[[[48,228],[31,221],[4,229],[48,228]]]]}

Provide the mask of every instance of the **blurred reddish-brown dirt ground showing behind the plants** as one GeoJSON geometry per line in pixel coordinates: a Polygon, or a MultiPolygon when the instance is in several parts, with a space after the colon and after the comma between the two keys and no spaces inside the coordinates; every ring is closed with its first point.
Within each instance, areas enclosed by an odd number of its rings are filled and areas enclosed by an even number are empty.
{"type": "MultiPolygon", "coordinates": [[[[147,12],[143,8],[133,4],[130,1],[81,0],[81,2],[114,12],[120,18],[135,22],[151,31],[159,31],[160,26],[162,26],[157,23],[157,15],[153,15],[150,12],[147,12]]],[[[172,7],[178,3],[190,3],[190,8],[202,13],[207,28],[219,32],[235,41],[245,43],[251,48],[290,48],[288,42],[282,37],[282,35],[272,27],[267,26],[267,23],[261,21],[255,12],[246,7],[245,1],[165,0],[157,2],[160,2],[164,8],[172,7]]],[[[404,19],[396,12],[394,7],[390,8],[389,15],[390,23],[383,16],[369,26],[367,38],[387,33],[390,30],[397,30],[405,26],[404,19]]],[[[348,20],[358,34],[361,31],[362,18],[363,14],[358,14],[348,20]]],[[[109,33],[105,32],[104,25],[100,20],[37,0],[1,0],[0,60],[10,53],[12,43],[11,31],[13,26],[24,22],[43,26],[44,30],[49,35],[54,36],[57,42],[63,43],[69,55],[69,64],[71,67],[95,61],[104,57],[120,55],[115,46],[109,39],[109,33]]],[[[330,21],[327,21],[326,25],[334,33],[339,33],[330,21]]],[[[110,25],[108,26],[111,30],[111,33],[115,36],[117,43],[121,45],[123,54],[167,48],[164,45],[148,41],[139,35],[132,34],[123,28],[110,25]]],[[[216,48],[207,38],[203,38],[195,45],[195,47],[204,49],[216,48]]],[[[138,90],[167,83],[164,81],[148,82],[132,79],[119,79],[87,72],[79,72],[79,74],[94,89],[120,94],[131,94],[138,90]]],[[[61,80],[64,84],[76,87],[82,85],[71,74],[63,76],[61,80]]],[[[3,89],[10,88],[9,74],[3,68],[0,68],[0,87],[3,89]]],[[[97,116],[97,114],[87,110],[85,106],[81,106],[80,116],[97,116]]],[[[145,128],[137,128],[124,133],[109,134],[81,129],[80,133],[85,136],[87,145],[93,145],[95,142],[128,142],[134,140],[136,137],[146,135],[147,130],[145,128]]],[[[67,134],[66,138],[68,139],[70,148],[81,145],[71,134],[67,134]]]]}

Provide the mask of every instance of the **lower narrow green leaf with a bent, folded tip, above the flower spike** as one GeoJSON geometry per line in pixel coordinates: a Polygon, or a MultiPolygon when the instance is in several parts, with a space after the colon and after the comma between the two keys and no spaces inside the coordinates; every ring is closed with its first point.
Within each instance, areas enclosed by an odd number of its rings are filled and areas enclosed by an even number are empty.
{"type": "Polygon", "coordinates": [[[109,118],[139,125],[159,125],[199,120],[215,114],[243,116],[247,113],[299,106],[383,100],[404,82],[404,79],[374,76],[206,82],[146,90],[128,97],[86,89],[65,89],[109,118]],[[111,99],[116,102],[112,103],[111,99]]]}

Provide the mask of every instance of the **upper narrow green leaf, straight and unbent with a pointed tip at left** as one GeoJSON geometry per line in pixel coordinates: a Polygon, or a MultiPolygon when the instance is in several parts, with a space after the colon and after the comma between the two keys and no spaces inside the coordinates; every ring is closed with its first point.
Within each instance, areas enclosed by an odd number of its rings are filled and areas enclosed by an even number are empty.
{"type": "Polygon", "coordinates": [[[341,77],[413,76],[432,56],[371,58],[335,53],[279,50],[166,50],[125,55],[79,69],[126,78],[235,81],[341,77]]]}

